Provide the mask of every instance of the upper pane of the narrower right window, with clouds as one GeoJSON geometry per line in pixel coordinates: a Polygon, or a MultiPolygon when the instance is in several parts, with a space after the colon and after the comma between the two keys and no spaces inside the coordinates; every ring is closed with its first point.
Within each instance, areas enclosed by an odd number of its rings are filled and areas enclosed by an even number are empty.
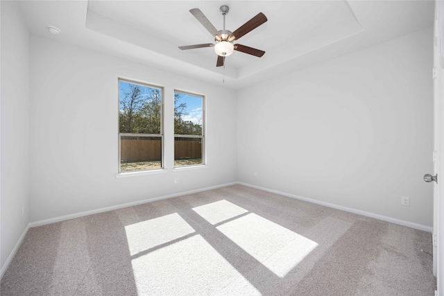
{"type": "Polygon", "coordinates": [[[174,134],[203,135],[203,98],[174,92],[174,134]]]}

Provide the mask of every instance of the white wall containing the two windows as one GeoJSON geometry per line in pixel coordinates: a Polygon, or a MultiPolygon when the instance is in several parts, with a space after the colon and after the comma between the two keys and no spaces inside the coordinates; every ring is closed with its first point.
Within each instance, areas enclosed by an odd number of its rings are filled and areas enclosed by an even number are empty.
{"type": "Polygon", "coordinates": [[[222,84],[33,36],[31,221],[235,182],[236,120],[236,94],[222,84]],[[167,173],[115,177],[119,76],[164,86],[167,173]],[[175,88],[206,96],[207,168],[172,170],[175,88]]]}

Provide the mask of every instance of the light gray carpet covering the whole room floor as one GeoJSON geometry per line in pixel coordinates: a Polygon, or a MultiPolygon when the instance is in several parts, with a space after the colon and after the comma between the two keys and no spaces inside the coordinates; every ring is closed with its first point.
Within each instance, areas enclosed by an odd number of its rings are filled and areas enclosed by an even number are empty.
{"type": "Polygon", "coordinates": [[[1,295],[434,295],[431,240],[234,185],[31,228],[1,295]]]}

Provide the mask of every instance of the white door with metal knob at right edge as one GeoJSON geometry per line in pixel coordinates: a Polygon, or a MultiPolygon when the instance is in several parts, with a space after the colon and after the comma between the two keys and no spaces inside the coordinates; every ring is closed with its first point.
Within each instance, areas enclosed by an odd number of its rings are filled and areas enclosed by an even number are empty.
{"type": "Polygon", "coordinates": [[[444,1],[435,1],[434,30],[434,275],[444,296],[444,1]]]}

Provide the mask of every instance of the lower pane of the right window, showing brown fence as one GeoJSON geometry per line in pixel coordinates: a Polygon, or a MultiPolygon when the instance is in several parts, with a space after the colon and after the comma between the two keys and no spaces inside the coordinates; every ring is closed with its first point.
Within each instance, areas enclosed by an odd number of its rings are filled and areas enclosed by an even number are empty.
{"type": "Polygon", "coordinates": [[[174,166],[194,166],[202,162],[201,138],[174,138],[174,166]]]}

